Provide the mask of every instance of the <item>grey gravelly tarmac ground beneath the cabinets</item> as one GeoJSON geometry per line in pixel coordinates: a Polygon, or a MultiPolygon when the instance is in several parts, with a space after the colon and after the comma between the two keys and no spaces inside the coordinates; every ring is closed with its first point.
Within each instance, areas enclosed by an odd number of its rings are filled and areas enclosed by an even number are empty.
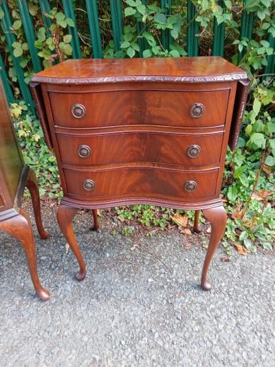
{"type": "Polygon", "coordinates": [[[198,235],[127,238],[108,222],[91,232],[89,219],[75,222],[83,282],[54,213],[50,240],[35,230],[49,302],[34,295],[19,243],[0,234],[1,366],[275,366],[274,253],[221,262],[219,249],[203,292],[198,235]]]}

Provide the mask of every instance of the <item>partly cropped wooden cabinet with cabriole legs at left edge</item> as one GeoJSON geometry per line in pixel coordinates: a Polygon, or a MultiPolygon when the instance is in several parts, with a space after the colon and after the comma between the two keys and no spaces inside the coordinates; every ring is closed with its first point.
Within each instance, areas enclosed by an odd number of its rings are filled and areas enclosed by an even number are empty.
{"type": "Polygon", "coordinates": [[[21,199],[28,187],[34,208],[37,229],[41,238],[50,235],[43,229],[39,187],[36,175],[25,165],[17,137],[14,132],[10,109],[0,81],[0,230],[17,238],[25,251],[30,275],[36,294],[41,300],[48,300],[50,293],[43,289],[36,266],[34,235],[28,213],[21,208],[21,199]]]}

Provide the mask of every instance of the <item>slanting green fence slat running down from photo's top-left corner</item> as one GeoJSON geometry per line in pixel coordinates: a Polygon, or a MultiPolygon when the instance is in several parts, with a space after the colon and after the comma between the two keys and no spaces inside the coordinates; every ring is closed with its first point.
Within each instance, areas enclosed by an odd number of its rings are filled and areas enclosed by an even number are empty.
{"type": "Polygon", "coordinates": [[[14,34],[10,30],[10,27],[12,26],[12,22],[10,20],[10,12],[8,10],[8,6],[5,3],[5,1],[1,1],[0,6],[4,12],[4,17],[1,19],[1,27],[3,29],[3,32],[5,33],[5,39],[7,40],[8,48],[12,56],[12,63],[17,73],[17,79],[18,79],[18,83],[20,86],[20,90],[25,100],[25,103],[28,105],[28,107],[30,107],[30,109],[32,109],[32,112],[34,112],[34,101],[32,101],[30,90],[28,88],[28,85],[24,81],[23,70],[20,66],[20,58],[15,57],[13,54],[12,43],[16,42],[17,39],[15,38],[14,34]]]}

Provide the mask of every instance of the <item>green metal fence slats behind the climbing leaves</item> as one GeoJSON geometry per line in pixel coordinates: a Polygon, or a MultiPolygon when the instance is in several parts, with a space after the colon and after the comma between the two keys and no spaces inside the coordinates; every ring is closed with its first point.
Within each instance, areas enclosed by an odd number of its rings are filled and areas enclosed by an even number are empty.
{"type": "MultiPolygon", "coordinates": [[[[243,2],[247,2],[248,0],[243,0],[243,2]]],[[[178,1],[175,1],[175,3],[178,1]]],[[[32,59],[32,65],[34,72],[39,72],[42,70],[43,66],[41,65],[41,59],[38,55],[39,50],[34,46],[34,41],[36,40],[36,34],[34,31],[34,24],[32,16],[30,14],[28,8],[27,0],[17,0],[19,14],[23,23],[23,30],[25,32],[25,38],[28,41],[28,47],[30,51],[30,56],[32,59]]],[[[74,27],[67,27],[67,32],[72,36],[72,40],[70,42],[72,46],[72,57],[74,59],[80,59],[82,57],[82,53],[80,50],[80,41],[78,29],[76,27],[76,4],[77,1],[73,0],[63,0],[63,12],[66,17],[71,18],[74,21],[74,27]]],[[[221,7],[224,6],[224,1],[219,0],[219,5],[221,7]]],[[[41,8],[41,12],[43,14],[43,22],[46,25],[47,36],[50,36],[50,32],[48,28],[51,25],[51,19],[49,17],[45,17],[45,13],[49,13],[51,10],[51,1],[50,0],[39,0],[38,4],[41,8]]],[[[85,0],[83,1],[84,9],[83,11],[87,14],[87,28],[89,28],[89,34],[91,39],[91,49],[94,58],[102,58],[103,50],[102,50],[102,30],[100,30],[100,22],[98,18],[98,5],[100,4],[97,0],[85,0]]],[[[146,4],[146,0],[142,0],[142,4],[146,4]]],[[[123,12],[122,12],[122,1],[120,0],[109,0],[110,12],[111,12],[111,27],[113,32],[113,43],[115,47],[115,51],[120,50],[120,43],[122,41],[123,36],[123,12]]],[[[172,0],[159,0],[159,6],[162,8],[166,8],[168,14],[171,12],[171,8],[173,6],[172,0]]],[[[24,72],[21,67],[21,58],[15,57],[13,54],[12,43],[16,42],[17,39],[12,32],[11,26],[12,21],[10,17],[10,9],[8,8],[7,0],[0,0],[0,11],[3,14],[1,17],[1,34],[5,34],[6,48],[9,50],[9,54],[12,58],[12,63],[14,70],[17,74],[17,80],[21,92],[22,98],[25,100],[25,103],[29,105],[31,109],[34,109],[34,103],[32,101],[32,96],[30,94],[30,90],[28,85],[24,80],[24,72]]],[[[187,0],[187,13],[186,13],[186,22],[187,22],[187,34],[186,34],[186,50],[188,56],[198,56],[199,43],[197,34],[199,32],[199,23],[195,21],[196,17],[196,7],[192,0],[187,0]]],[[[137,22],[137,30],[141,30],[144,24],[137,22]]],[[[245,36],[248,39],[252,37],[253,30],[253,13],[247,14],[243,12],[242,15],[242,23],[241,23],[241,36],[245,36]]],[[[212,42],[212,55],[223,56],[224,50],[224,40],[225,40],[225,24],[217,23],[217,19],[213,24],[213,42],[212,42]]],[[[171,43],[171,36],[168,30],[162,31],[162,45],[164,48],[168,48],[171,43]]],[[[270,35],[270,39],[268,40],[272,47],[275,47],[275,39],[270,35]]],[[[146,40],[139,39],[140,45],[140,56],[142,56],[142,51],[146,48],[146,40]]],[[[3,52],[2,52],[3,56],[3,52]]],[[[10,87],[9,76],[7,75],[7,71],[5,70],[5,65],[3,61],[3,57],[0,54],[0,67],[1,67],[1,79],[3,81],[3,85],[5,88],[5,93],[10,103],[14,102],[14,93],[12,88],[10,87]]],[[[239,60],[242,57],[242,53],[239,53],[239,60]]],[[[267,65],[265,66],[265,73],[274,72],[275,68],[275,57],[274,55],[270,55],[267,58],[267,65]]]]}

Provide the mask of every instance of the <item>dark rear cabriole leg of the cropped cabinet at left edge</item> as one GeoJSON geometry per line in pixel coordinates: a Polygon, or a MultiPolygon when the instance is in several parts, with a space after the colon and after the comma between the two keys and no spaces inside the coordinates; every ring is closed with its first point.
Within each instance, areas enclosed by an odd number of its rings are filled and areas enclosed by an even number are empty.
{"type": "Polygon", "coordinates": [[[43,238],[43,240],[46,240],[50,237],[50,233],[47,233],[43,228],[41,220],[39,185],[37,182],[36,174],[32,169],[30,169],[28,172],[26,187],[28,187],[30,191],[30,196],[32,198],[32,207],[34,208],[34,218],[36,221],[37,230],[39,231],[40,237],[43,238]]]}

